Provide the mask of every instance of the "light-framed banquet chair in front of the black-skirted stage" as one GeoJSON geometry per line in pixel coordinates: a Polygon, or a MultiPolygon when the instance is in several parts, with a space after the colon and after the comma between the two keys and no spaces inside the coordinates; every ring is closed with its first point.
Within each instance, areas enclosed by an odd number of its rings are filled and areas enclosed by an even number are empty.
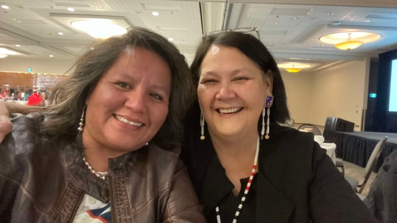
{"type": "Polygon", "coordinates": [[[375,145],[375,148],[371,153],[370,159],[366,163],[364,171],[364,181],[361,184],[359,184],[359,181],[356,178],[345,175],[345,179],[350,183],[355,192],[357,191],[357,187],[360,187],[360,189],[358,190],[358,194],[361,194],[366,182],[368,181],[368,178],[370,178],[371,173],[375,170],[375,167],[378,164],[379,155],[386,144],[386,140],[387,136],[385,136],[385,138],[380,140],[375,145]]]}

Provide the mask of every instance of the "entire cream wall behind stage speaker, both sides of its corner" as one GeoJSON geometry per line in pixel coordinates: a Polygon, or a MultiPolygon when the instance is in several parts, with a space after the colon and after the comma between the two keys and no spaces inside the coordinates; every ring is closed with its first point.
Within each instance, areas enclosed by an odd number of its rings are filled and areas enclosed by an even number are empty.
{"type": "Polygon", "coordinates": [[[328,116],[335,116],[354,122],[358,125],[355,131],[360,131],[362,110],[366,109],[369,66],[370,59],[363,58],[319,72],[281,70],[291,118],[296,123],[324,126],[328,116]]]}

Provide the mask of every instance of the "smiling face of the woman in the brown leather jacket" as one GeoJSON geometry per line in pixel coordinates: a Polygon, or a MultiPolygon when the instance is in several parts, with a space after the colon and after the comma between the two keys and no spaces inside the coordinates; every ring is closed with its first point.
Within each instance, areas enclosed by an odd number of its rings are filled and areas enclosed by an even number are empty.
{"type": "Polygon", "coordinates": [[[163,124],[171,91],[171,70],[143,48],[124,52],[86,100],[83,144],[122,154],[149,142],[163,124]]]}

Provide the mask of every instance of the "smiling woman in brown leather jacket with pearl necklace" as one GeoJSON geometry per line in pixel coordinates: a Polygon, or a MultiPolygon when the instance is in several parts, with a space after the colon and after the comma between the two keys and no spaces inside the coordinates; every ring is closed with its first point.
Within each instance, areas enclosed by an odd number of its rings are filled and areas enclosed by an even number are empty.
{"type": "Polygon", "coordinates": [[[1,221],[205,222],[179,159],[193,89],[184,56],[136,27],[77,61],[45,112],[12,116],[0,144],[1,221]]]}

